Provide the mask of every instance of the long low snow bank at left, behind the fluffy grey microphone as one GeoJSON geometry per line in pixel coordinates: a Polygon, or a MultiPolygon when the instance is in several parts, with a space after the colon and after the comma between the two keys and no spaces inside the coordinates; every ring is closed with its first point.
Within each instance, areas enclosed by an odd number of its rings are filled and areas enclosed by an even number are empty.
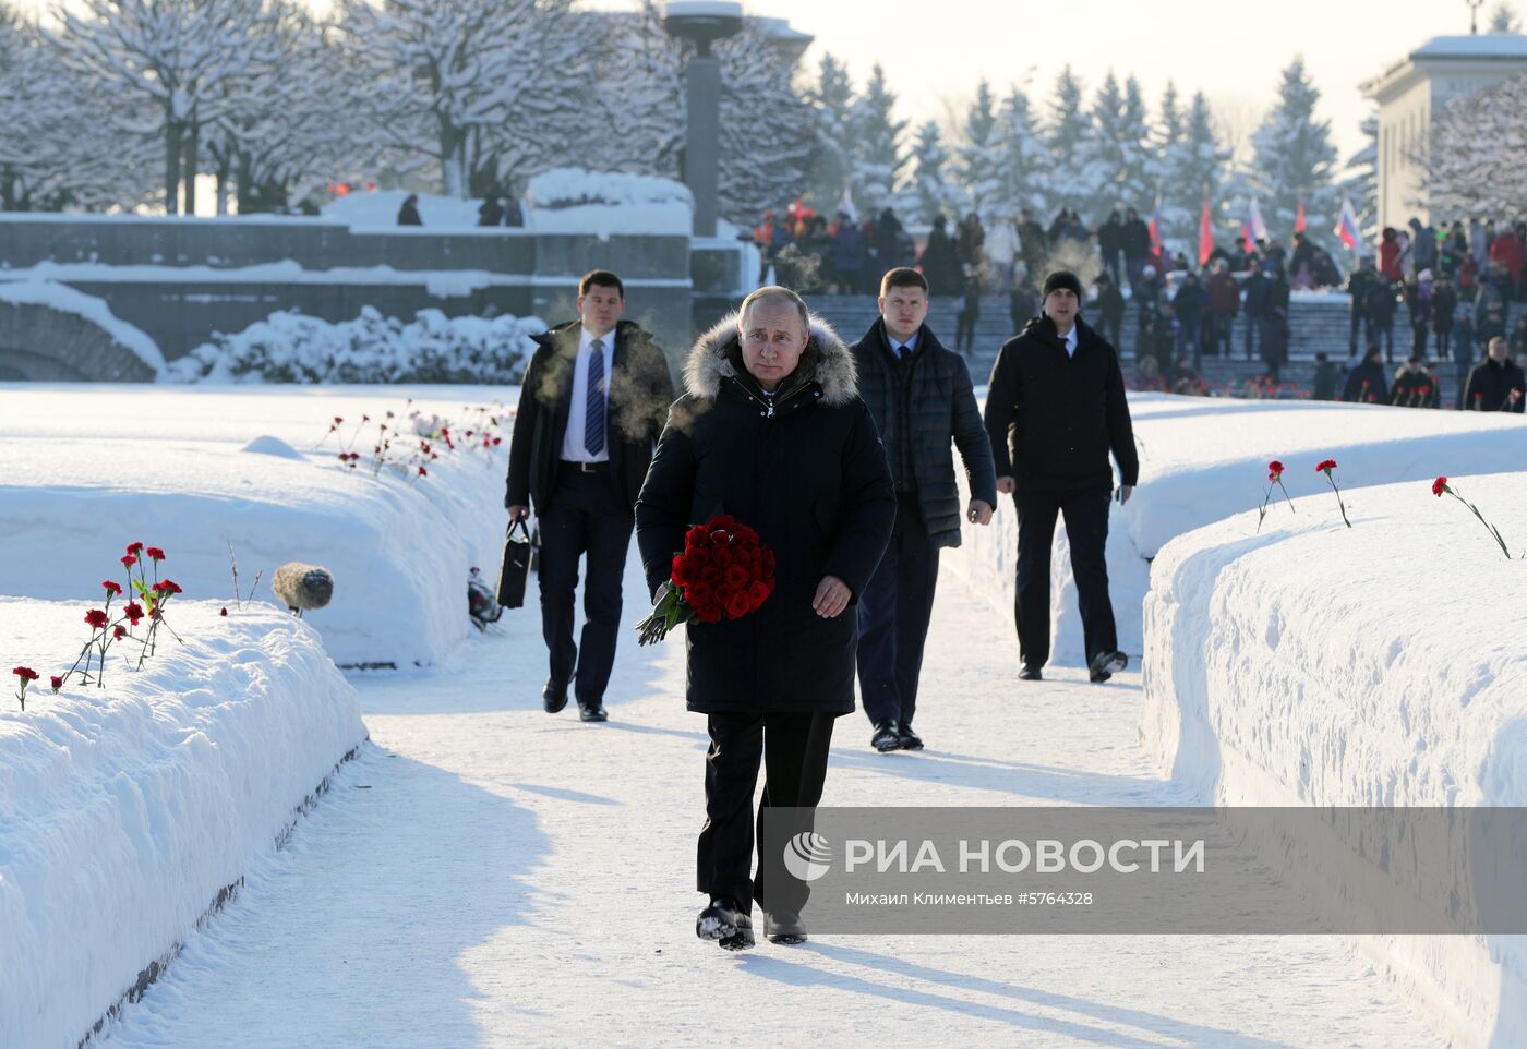
{"type": "MultiPolygon", "coordinates": [[[[470,632],[472,566],[496,571],[504,534],[508,412],[493,409],[502,438],[481,441],[487,412],[464,409],[515,389],[240,388],[14,385],[0,417],[0,534],[5,589],[69,600],[95,592],[133,541],[163,547],[165,568],[188,597],[232,597],[229,544],[244,592],[261,573],[318,563],[336,577],[333,603],[307,623],[341,664],[431,664],[470,632]],[[408,420],[405,399],[417,394],[408,420]],[[457,420],[449,452],[421,460],[428,476],[368,460],[377,426],[457,420]],[[357,437],[363,414],[371,417],[357,437]],[[345,418],[330,434],[334,417],[345,418]],[[478,421],[469,421],[476,418],[478,421]],[[466,437],[466,429],[473,437],[466,437]],[[260,437],[302,452],[296,460],[243,450],[260,437]],[[362,453],[347,469],[341,450],[362,453]]],[[[395,438],[392,457],[417,447],[395,438]]]]}

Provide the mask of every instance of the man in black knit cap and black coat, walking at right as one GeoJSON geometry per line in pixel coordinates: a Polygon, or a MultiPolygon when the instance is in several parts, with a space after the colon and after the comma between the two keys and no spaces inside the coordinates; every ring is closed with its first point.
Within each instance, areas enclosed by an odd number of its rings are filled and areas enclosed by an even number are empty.
{"type": "Polygon", "coordinates": [[[1125,666],[1109,600],[1104,548],[1109,495],[1119,464],[1119,502],[1139,483],[1139,457],[1118,353],[1081,322],[1075,273],[1044,278],[1043,313],[997,353],[986,394],[986,432],[997,490],[1019,510],[1019,649],[1025,681],[1049,660],[1049,576],[1055,519],[1066,518],[1087,669],[1107,681],[1125,666]]]}

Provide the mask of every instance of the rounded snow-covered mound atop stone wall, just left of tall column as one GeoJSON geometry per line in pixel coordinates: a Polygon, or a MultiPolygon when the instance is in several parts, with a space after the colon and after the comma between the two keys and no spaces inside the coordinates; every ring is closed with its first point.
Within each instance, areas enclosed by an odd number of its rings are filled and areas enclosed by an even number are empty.
{"type": "Polygon", "coordinates": [[[695,197],[657,176],[556,168],[525,188],[525,224],[556,234],[680,234],[693,229],[695,197]]]}

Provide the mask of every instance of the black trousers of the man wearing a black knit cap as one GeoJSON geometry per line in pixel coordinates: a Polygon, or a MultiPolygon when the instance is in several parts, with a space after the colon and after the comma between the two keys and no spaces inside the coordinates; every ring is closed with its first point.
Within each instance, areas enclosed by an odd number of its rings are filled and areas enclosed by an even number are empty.
{"type": "Polygon", "coordinates": [[[1066,519],[1070,544],[1070,570],[1077,579],[1077,605],[1087,663],[1099,652],[1119,647],[1109,600],[1109,490],[1028,492],[1012,495],[1019,508],[1019,650],[1025,664],[1044,666],[1049,660],[1049,580],[1051,545],[1055,518],[1066,519]]]}

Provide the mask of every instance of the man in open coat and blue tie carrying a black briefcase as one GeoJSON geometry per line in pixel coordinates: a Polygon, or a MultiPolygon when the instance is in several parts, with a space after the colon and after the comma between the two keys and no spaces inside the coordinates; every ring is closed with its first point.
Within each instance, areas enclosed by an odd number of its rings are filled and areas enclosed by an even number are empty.
{"type": "Polygon", "coordinates": [[[542,702],[557,713],[573,684],[583,721],[606,718],[634,507],[673,400],[663,351],[620,319],[625,304],[614,273],[579,281],[579,319],[536,337],[508,446],[508,516],[534,505],[541,519],[541,631],[551,654],[542,702]],[[585,556],[583,634],[574,644],[585,556]]]}

